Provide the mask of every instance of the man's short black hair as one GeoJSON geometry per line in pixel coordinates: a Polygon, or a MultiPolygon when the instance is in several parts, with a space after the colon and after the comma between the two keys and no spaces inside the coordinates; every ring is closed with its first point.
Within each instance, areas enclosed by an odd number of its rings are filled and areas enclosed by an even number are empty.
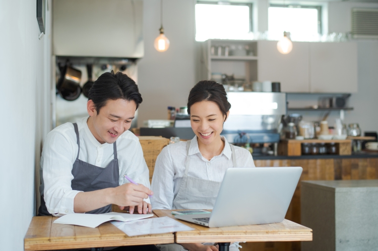
{"type": "Polygon", "coordinates": [[[120,71],[115,74],[114,71],[105,72],[94,81],[88,100],[93,101],[98,114],[108,100],[117,99],[134,101],[137,109],[143,101],[137,84],[128,75],[120,71]]]}

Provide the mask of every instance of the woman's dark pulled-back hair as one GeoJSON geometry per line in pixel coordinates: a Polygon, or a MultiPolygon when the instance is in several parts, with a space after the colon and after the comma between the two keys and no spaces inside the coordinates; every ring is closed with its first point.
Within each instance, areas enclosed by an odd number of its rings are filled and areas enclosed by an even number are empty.
{"type": "Polygon", "coordinates": [[[227,112],[230,110],[231,104],[228,103],[226,91],[220,83],[213,80],[199,81],[189,93],[187,113],[191,114],[191,106],[201,101],[214,102],[227,118],[227,112]]]}

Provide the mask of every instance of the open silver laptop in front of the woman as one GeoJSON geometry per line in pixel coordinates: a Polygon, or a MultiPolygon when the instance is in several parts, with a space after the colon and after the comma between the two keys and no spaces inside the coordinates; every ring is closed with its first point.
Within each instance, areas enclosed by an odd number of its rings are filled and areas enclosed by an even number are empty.
{"type": "Polygon", "coordinates": [[[211,214],[174,217],[208,227],[281,222],[301,174],[300,167],[230,168],[211,214]]]}

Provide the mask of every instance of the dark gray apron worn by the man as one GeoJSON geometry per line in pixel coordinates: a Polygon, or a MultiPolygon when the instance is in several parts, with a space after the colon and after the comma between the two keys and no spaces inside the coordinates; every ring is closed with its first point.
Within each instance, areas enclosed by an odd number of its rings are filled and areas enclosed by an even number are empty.
{"type": "MultiPolygon", "coordinates": [[[[106,166],[101,168],[79,159],[80,141],[78,125],[74,123],[77,143],[78,143],[78,156],[72,167],[72,175],[74,179],[71,181],[71,188],[77,191],[90,192],[105,188],[115,188],[119,185],[119,167],[117,158],[117,146],[113,143],[114,159],[106,166]]],[[[86,212],[92,214],[108,213],[111,212],[111,204],[86,212]]],[[[38,209],[38,215],[51,215],[46,208],[45,200],[42,196],[41,206],[38,209]]]]}

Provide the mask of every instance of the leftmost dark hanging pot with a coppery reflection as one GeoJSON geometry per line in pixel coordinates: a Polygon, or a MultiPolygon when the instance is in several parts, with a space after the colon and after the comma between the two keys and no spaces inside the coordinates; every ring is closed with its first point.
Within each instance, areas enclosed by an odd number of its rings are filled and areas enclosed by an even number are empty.
{"type": "Polygon", "coordinates": [[[56,85],[60,96],[68,101],[73,101],[79,98],[81,93],[80,80],[81,71],[75,69],[68,64],[60,67],[60,78],[56,85]]]}

